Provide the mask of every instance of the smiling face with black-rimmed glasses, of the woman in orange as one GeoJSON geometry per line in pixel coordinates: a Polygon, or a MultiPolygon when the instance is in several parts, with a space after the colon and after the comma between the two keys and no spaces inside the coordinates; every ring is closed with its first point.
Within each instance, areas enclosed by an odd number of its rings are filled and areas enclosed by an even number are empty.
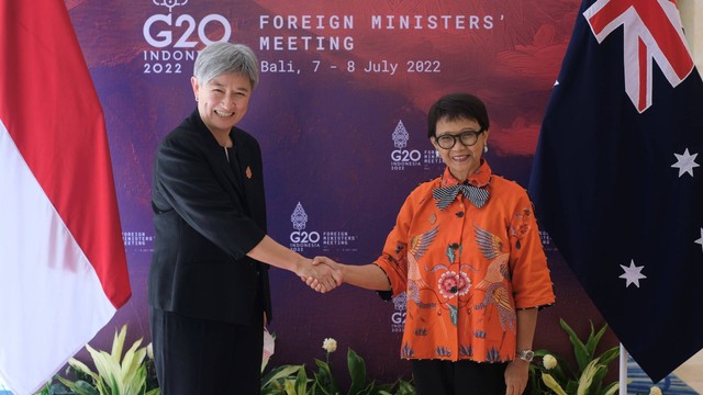
{"type": "MultiPolygon", "coordinates": [[[[446,117],[442,117],[437,121],[436,137],[442,135],[458,136],[465,132],[479,132],[481,125],[475,120],[456,119],[447,121],[446,117]]],[[[488,131],[478,135],[476,144],[472,146],[465,146],[458,138],[455,139],[454,147],[445,149],[437,145],[434,138],[429,139],[435,149],[439,151],[442,160],[449,168],[449,172],[457,180],[464,181],[471,173],[476,171],[481,165],[481,154],[486,142],[488,142],[488,131]]]]}

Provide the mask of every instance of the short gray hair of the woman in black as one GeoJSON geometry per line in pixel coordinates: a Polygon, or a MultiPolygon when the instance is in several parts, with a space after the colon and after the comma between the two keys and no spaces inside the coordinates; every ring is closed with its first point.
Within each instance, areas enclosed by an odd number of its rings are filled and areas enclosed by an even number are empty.
{"type": "Polygon", "coordinates": [[[252,48],[244,44],[212,43],[198,54],[193,77],[199,83],[208,83],[225,72],[248,77],[252,90],[259,83],[259,63],[252,48]]]}

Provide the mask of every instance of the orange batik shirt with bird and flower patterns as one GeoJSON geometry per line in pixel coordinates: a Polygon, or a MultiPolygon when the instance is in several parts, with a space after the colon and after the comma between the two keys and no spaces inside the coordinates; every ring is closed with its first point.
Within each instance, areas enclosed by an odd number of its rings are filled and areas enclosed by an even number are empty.
{"type": "Polygon", "coordinates": [[[516,309],[555,302],[525,190],[484,160],[468,182],[489,192],[481,208],[461,193],[437,207],[433,190],[458,183],[448,169],[417,187],[375,262],[406,293],[401,358],[513,360],[516,309]]]}

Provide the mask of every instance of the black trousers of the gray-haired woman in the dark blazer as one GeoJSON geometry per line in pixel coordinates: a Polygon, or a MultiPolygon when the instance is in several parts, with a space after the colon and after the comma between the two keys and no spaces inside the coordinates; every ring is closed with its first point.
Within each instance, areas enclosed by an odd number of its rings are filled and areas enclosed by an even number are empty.
{"type": "Polygon", "coordinates": [[[198,319],[152,307],[152,341],[163,395],[258,395],[264,313],[254,325],[198,319]]]}

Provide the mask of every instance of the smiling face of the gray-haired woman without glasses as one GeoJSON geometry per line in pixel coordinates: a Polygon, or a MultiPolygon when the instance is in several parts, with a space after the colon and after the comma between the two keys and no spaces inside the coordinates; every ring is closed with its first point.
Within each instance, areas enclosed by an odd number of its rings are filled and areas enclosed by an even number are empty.
{"type": "Polygon", "coordinates": [[[201,84],[190,80],[198,100],[202,122],[215,137],[225,137],[246,114],[252,95],[252,81],[237,72],[226,72],[201,84]]]}

